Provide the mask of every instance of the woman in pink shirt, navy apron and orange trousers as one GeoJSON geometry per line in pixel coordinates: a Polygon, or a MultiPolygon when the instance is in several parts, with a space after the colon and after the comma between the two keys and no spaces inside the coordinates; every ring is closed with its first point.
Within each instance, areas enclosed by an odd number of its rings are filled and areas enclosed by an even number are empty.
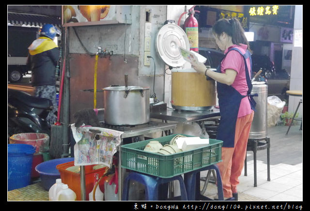
{"type": "Polygon", "coordinates": [[[192,64],[198,72],[217,81],[220,123],[217,140],[223,141],[222,162],[218,169],[223,184],[224,199],[238,198],[238,177],[244,167],[248,136],[255,111],[250,94],[252,84],[251,54],[244,30],[236,18],[220,19],[213,26],[218,47],[224,51],[217,71],[208,70],[202,63],[192,64]]]}

